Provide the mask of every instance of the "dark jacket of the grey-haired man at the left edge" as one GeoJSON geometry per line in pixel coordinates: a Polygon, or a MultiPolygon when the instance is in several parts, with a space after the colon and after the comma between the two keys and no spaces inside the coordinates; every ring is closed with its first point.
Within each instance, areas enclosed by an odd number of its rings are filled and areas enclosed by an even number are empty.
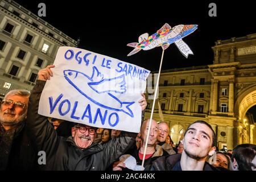
{"type": "Polygon", "coordinates": [[[25,125],[26,122],[23,122],[14,131],[5,131],[0,126],[0,170],[36,169],[38,155],[32,147],[25,125]]]}

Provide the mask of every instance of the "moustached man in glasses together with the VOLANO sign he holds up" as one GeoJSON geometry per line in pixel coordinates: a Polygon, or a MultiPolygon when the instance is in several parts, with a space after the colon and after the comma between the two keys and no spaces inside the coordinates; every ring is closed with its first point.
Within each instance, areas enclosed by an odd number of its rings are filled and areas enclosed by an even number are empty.
{"type": "Polygon", "coordinates": [[[42,169],[105,170],[124,154],[141,127],[148,74],[112,57],[60,47],[54,65],[39,71],[28,106],[27,128],[46,154],[42,169]],[[77,123],[72,136],[57,137],[43,115],[77,123]],[[97,144],[97,127],[131,133],[97,144]]]}

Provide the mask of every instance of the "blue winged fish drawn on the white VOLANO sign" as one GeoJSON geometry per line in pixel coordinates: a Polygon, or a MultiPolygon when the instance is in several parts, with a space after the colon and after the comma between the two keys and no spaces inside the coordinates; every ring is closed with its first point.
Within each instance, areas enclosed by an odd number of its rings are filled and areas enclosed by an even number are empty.
{"type": "Polygon", "coordinates": [[[126,93],[125,74],[114,78],[104,78],[104,75],[96,67],[93,67],[91,77],[71,69],[64,70],[63,73],[69,84],[94,104],[105,109],[122,111],[130,117],[134,117],[133,111],[129,107],[135,102],[122,102],[112,94],[126,93]]]}

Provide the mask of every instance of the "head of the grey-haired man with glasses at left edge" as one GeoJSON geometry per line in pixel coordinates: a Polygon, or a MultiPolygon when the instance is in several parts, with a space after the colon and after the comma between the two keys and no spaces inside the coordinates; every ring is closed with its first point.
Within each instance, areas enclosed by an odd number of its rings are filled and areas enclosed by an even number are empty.
{"type": "Polygon", "coordinates": [[[13,129],[27,117],[28,98],[27,90],[11,90],[2,100],[0,122],[6,129],[13,129]]]}

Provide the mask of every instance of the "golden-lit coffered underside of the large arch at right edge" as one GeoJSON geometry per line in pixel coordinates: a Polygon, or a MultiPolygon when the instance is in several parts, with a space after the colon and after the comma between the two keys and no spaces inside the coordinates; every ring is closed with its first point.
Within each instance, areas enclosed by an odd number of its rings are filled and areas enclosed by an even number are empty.
{"type": "Polygon", "coordinates": [[[235,116],[242,119],[250,107],[256,105],[256,84],[248,86],[243,93],[241,93],[234,105],[235,116]]]}

